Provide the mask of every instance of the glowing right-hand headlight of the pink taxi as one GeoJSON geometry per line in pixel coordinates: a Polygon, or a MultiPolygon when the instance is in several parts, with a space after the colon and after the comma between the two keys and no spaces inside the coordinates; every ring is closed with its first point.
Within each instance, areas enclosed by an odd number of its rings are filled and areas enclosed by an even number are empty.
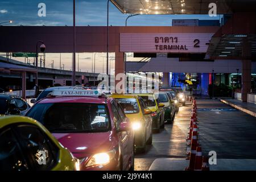
{"type": "Polygon", "coordinates": [[[86,164],[85,167],[106,165],[110,163],[110,160],[112,160],[114,156],[115,150],[94,154],[92,158],[89,159],[89,162],[86,164]]]}

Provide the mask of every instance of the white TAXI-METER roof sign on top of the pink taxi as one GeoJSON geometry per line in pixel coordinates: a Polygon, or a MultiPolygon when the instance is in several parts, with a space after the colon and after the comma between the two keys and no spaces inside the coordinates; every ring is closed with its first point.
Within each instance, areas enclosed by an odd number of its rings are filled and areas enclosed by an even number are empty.
{"type": "Polygon", "coordinates": [[[53,90],[52,96],[101,96],[99,90],[53,90]]]}

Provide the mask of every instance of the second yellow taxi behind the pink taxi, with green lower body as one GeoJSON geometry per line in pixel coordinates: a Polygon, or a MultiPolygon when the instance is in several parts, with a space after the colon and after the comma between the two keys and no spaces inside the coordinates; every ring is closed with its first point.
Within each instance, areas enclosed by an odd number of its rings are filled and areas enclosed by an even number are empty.
{"type": "Polygon", "coordinates": [[[148,109],[152,111],[152,129],[159,133],[160,129],[164,128],[164,104],[162,104],[155,94],[139,93],[143,101],[146,103],[148,109]]]}

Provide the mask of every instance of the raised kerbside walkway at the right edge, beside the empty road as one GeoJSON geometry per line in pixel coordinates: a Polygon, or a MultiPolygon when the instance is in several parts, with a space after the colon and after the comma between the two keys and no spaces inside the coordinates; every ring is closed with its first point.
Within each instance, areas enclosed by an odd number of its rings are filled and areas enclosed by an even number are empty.
{"type": "Polygon", "coordinates": [[[220,101],[236,109],[239,109],[247,114],[250,114],[253,117],[256,117],[256,104],[249,103],[249,102],[242,102],[240,100],[232,99],[232,98],[221,99],[220,101]]]}

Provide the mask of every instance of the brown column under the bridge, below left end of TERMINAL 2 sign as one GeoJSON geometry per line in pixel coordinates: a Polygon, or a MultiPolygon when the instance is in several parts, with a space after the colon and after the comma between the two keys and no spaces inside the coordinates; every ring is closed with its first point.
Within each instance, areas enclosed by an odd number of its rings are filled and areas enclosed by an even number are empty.
{"type": "MultiPolygon", "coordinates": [[[[115,52],[115,77],[118,73],[125,73],[125,53],[123,52],[115,52]]],[[[119,81],[115,80],[115,86],[118,82],[119,81]]]]}

